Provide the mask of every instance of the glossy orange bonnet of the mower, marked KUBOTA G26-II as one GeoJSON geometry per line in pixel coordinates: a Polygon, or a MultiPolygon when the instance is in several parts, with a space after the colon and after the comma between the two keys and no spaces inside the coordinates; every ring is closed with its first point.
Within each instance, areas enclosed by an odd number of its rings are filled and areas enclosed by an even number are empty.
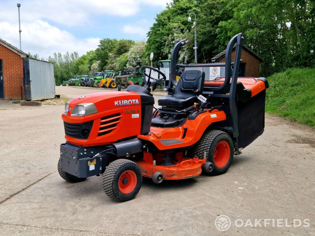
{"type": "Polygon", "coordinates": [[[75,145],[83,145],[84,147],[97,146],[97,145],[106,145],[112,144],[122,138],[133,137],[140,134],[141,126],[141,106],[137,105],[126,105],[126,106],[115,106],[115,101],[120,100],[138,100],[140,101],[139,93],[134,92],[101,92],[101,93],[92,93],[85,95],[84,98],[74,98],[70,105],[67,115],[62,115],[62,120],[68,123],[84,123],[88,121],[94,121],[92,130],[87,139],[78,139],[65,136],[66,140],[69,143],[75,145]],[[119,94],[119,97],[117,96],[119,94]],[[97,113],[92,115],[86,115],[81,117],[71,116],[71,110],[81,103],[94,103],[97,108],[97,113]],[[139,116],[137,118],[132,118],[132,113],[130,111],[135,111],[139,116]],[[128,114],[126,114],[128,112],[128,114]],[[117,117],[101,120],[101,118],[120,114],[117,117]],[[110,122],[111,119],[117,119],[116,126],[110,127],[108,129],[100,128],[106,126],[113,126],[113,123],[110,122]],[[106,123],[106,124],[103,124],[106,123]],[[109,134],[104,136],[98,136],[102,132],[107,132],[112,130],[109,134]]]}

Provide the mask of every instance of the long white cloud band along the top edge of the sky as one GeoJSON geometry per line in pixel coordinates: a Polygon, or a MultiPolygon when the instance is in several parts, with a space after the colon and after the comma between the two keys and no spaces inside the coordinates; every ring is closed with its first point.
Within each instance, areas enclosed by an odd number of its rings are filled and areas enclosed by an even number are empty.
{"type": "MultiPolygon", "coordinates": [[[[136,15],[146,6],[162,6],[170,0],[28,0],[21,1],[21,19],[23,22],[51,20],[66,26],[92,24],[93,17],[112,15],[128,17],[136,15]],[[23,13],[23,14],[22,14],[23,13]]],[[[0,22],[15,22],[17,9],[13,2],[1,3],[0,22]],[[14,17],[12,17],[14,16],[14,17]]]]}

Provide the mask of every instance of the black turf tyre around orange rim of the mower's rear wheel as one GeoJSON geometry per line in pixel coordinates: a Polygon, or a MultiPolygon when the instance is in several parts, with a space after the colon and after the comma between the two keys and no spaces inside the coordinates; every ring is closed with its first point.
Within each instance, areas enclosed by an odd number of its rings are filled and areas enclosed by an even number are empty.
{"type": "MultiPolygon", "coordinates": [[[[191,152],[191,157],[197,156],[200,159],[203,159],[203,153],[206,152],[207,153],[207,161],[210,161],[213,163],[213,171],[211,171],[210,173],[206,173],[207,175],[221,175],[224,174],[231,166],[232,160],[233,160],[233,141],[230,135],[228,135],[226,132],[223,132],[221,130],[209,130],[203,133],[202,138],[200,139],[199,143],[192,149],[191,152]],[[213,147],[213,144],[215,144],[215,139],[223,136],[225,141],[227,141],[230,145],[230,149],[231,149],[231,157],[230,160],[228,161],[228,163],[226,164],[226,166],[224,166],[224,168],[218,168],[213,160],[210,160],[211,157],[209,157],[210,154],[210,149],[214,149],[215,147],[213,147]]],[[[205,171],[203,171],[203,173],[205,173],[205,171]]]]}

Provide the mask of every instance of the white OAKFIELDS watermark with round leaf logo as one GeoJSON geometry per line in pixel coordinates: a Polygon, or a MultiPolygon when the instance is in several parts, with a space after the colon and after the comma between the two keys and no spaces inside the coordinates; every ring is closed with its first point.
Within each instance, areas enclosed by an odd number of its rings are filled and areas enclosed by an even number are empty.
{"type": "Polygon", "coordinates": [[[231,225],[236,227],[309,227],[309,219],[231,219],[226,215],[220,215],[215,219],[215,227],[220,231],[228,230],[231,225]]]}

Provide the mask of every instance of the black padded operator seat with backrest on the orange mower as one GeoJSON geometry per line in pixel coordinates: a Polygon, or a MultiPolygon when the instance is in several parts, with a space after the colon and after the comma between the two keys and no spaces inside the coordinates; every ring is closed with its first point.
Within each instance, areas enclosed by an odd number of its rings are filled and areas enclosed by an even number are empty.
{"type": "Polygon", "coordinates": [[[187,108],[198,102],[194,91],[199,89],[202,93],[204,85],[204,72],[202,70],[185,70],[172,95],[158,99],[158,104],[165,107],[187,108]]]}

